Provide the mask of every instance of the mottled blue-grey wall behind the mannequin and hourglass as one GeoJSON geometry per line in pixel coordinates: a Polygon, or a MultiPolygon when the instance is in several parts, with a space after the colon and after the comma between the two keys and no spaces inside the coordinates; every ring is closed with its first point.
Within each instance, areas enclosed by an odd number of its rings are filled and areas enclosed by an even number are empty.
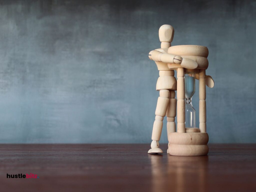
{"type": "Polygon", "coordinates": [[[175,29],[172,45],[209,49],[210,142],[256,142],[255,9],[255,1],[1,1],[0,142],[150,143],[159,93],[147,55],[163,24],[175,29]]]}

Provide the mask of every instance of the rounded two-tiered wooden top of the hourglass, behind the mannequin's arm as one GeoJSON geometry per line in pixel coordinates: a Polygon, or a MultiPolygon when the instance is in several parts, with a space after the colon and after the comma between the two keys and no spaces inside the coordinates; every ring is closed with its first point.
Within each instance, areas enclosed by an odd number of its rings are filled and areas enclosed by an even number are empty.
{"type": "MultiPolygon", "coordinates": [[[[192,59],[197,62],[197,69],[207,69],[208,54],[209,51],[207,47],[200,45],[176,45],[168,48],[168,53],[173,55],[179,55],[182,58],[192,59]]],[[[176,63],[168,63],[169,69],[177,69],[181,67],[176,63]]]]}

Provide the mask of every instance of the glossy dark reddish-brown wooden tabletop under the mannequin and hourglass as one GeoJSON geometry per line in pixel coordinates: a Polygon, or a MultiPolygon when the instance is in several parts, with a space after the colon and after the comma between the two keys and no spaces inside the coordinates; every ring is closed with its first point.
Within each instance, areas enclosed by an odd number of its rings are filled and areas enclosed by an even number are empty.
{"type": "Polygon", "coordinates": [[[148,155],[149,146],[1,144],[0,189],[256,191],[256,144],[209,144],[208,156],[196,157],[148,155]],[[39,178],[6,178],[19,173],[39,178]]]}

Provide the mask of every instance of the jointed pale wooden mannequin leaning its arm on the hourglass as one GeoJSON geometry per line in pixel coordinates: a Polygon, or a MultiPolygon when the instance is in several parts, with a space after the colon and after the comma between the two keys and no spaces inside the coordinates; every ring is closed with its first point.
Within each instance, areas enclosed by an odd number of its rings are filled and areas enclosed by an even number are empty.
{"type": "MultiPolygon", "coordinates": [[[[159,91],[159,97],[155,111],[156,117],[153,124],[151,149],[148,153],[163,153],[159,148],[158,141],[161,137],[163,119],[165,115],[167,116],[167,134],[176,131],[175,116],[177,101],[175,99],[175,90],[177,90],[177,81],[174,77],[174,70],[169,69],[167,63],[172,62],[181,64],[182,58],[167,54],[168,48],[171,46],[173,36],[173,27],[170,25],[162,25],[159,28],[161,49],[156,49],[149,53],[149,58],[156,62],[159,70],[159,78],[156,83],[156,90],[159,91]]],[[[190,60],[190,62],[192,65],[194,64],[195,68],[197,67],[196,62],[193,60],[190,60]]],[[[186,62],[183,62],[183,64],[186,65],[186,62]]]]}

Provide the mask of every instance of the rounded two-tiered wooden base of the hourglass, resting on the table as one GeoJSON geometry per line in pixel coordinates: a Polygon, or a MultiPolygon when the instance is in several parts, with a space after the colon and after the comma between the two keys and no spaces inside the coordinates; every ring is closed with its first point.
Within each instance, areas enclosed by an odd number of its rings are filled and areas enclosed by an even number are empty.
{"type": "Polygon", "coordinates": [[[208,140],[207,133],[169,133],[168,152],[170,155],[178,156],[207,155],[209,151],[208,140]]]}

